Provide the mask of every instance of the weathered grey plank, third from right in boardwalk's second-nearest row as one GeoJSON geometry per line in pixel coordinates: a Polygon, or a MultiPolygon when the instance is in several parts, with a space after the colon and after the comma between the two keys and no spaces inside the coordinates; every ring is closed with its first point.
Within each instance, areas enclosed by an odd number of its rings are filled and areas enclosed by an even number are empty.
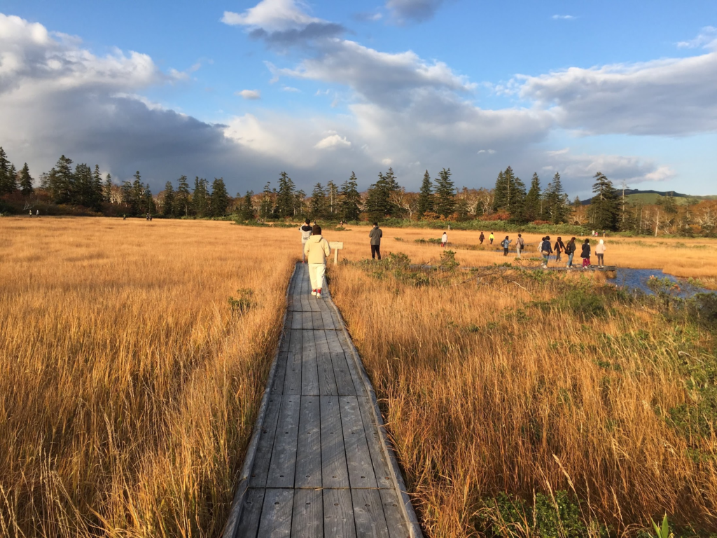
{"type": "Polygon", "coordinates": [[[321,396],[321,482],[324,488],[348,488],[338,396],[321,396]]]}

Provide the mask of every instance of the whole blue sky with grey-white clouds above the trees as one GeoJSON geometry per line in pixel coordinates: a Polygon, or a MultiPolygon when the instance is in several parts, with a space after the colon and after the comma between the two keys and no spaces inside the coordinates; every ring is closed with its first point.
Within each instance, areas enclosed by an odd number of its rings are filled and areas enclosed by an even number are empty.
{"type": "Polygon", "coordinates": [[[0,145],[117,179],[717,194],[717,3],[4,0],[0,145]],[[45,33],[43,33],[45,32],[45,33]]]}

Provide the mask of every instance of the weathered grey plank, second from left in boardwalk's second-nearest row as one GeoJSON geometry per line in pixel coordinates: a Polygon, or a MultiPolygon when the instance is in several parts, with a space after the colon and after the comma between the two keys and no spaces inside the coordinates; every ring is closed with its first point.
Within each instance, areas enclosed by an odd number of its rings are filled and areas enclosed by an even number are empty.
{"type": "Polygon", "coordinates": [[[299,433],[300,396],[285,395],[274,438],[267,488],[293,488],[299,433]]]}

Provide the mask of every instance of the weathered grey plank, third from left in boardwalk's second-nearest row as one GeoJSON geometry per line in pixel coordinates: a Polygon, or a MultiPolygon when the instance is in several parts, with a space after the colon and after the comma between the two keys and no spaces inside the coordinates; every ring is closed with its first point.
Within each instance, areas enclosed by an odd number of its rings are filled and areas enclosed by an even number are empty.
{"type": "Polygon", "coordinates": [[[320,488],[321,413],[318,396],[301,397],[295,488],[320,488]]]}

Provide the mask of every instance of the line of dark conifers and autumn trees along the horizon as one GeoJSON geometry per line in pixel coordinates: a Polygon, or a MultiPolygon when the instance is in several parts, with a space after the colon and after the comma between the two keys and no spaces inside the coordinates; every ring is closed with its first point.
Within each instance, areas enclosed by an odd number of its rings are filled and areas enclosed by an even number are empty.
{"type": "MultiPolygon", "coordinates": [[[[707,202],[686,207],[667,197],[659,204],[629,202],[612,181],[601,172],[594,176],[593,196],[589,204],[578,198],[572,202],[564,192],[556,172],[543,189],[534,173],[530,186],[511,166],[501,170],[492,189],[457,189],[450,168],[441,169],[432,178],[425,171],[418,192],[402,187],[394,170],[381,171],[378,179],[364,192],[353,172],[341,184],[316,183],[310,195],[297,189],[282,171],[277,186],[267,181],[262,192],[229,196],[224,179],[211,185],[196,176],[190,186],[187,176],[176,185],[167,181],[164,189],[153,194],[137,171],[132,180],[115,184],[110,174],[103,177],[100,168],[75,164],[60,156],[57,164],[39,177],[34,187],[27,163],[19,171],[0,147],[0,199],[42,199],[60,206],[82,207],[104,214],[164,217],[226,217],[242,221],[310,218],[312,220],[444,220],[504,221],[516,225],[582,225],[595,230],[649,233],[713,233],[717,207],[707,202]]],[[[27,204],[26,204],[27,205],[27,204]]],[[[1,209],[0,209],[1,211],[1,209]]]]}

